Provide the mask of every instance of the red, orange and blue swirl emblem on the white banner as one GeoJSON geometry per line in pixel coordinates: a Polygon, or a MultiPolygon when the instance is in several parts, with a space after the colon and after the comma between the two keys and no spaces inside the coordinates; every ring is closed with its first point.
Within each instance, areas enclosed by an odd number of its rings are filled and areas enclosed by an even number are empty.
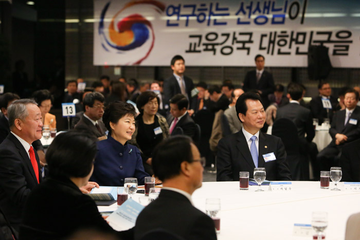
{"type": "Polygon", "coordinates": [[[129,10],[130,7],[133,7],[135,5],[152,5],[153,9],[158,13],[165,11],[165,5],[154,0],[139,0],[127,3],[112,17],[111,23],[107,28],[107,30],[109,31],[109,35],[106,35],[104,19],[110,4],[111,2],[108,2],[101,11],[98,31],[102,40],[101,45],[105,49],[105,51],[115,50],[117,53],[121,54],[127,51],[129,52],[131,50],[138,49],[142,46],[145,47],[145,43],[151,41],[151,44],[148,44],[148,46],[146,46],[147,48],[149,48],[147,51],[146,49],[141,49],[141,52],[146,52],[145,56],[141,56],[140,59],[135,60],[132,63],[140,64],[149,56],[151,50],[154,47],[155,34],[151,23],[146,20],[145,17],[138,13],[123,17],[116,24],[115,22],[120,13],[122,13],[125,9],[129,10]]]}

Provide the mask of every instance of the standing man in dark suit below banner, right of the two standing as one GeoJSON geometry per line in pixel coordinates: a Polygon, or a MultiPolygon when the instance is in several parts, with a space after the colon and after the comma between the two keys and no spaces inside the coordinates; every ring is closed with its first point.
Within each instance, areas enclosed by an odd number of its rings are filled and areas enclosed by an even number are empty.
{"type": "Polygon", "coordinates": [[[263,106],[266,109],[269,105],[268,95],[274,93],[274,79],[270,72],[264,70],[264,56],[258,54],[255,57],[255,64],[256,70],[246,73],[243,89],[245,93],[251,89],[259,90],[263,106]]]}

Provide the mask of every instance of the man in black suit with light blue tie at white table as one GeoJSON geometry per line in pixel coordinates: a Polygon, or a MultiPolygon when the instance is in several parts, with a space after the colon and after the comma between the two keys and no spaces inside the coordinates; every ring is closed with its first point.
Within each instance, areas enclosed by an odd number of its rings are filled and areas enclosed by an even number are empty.
{"type": "Polygon", "coordinates": [[[245,93],[235,107],[243,128],[219,141],[217,181],[239,181],[240,171],[254,178],[254,168],[265,168],[267,180],[291,180],[281,139],[260,132],[265,123],[260,97],[245,93]]]}

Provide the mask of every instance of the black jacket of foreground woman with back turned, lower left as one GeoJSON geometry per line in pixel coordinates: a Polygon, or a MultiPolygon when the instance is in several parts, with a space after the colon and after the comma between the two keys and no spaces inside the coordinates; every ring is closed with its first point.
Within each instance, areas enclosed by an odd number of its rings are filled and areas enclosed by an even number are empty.
{"type": "Polygon", "coordinates": [[[26,202],[20,239],[64,239],[83,228],[116,233],[95,201],[72,181],[50,177],[33,189],[26,202]]]}

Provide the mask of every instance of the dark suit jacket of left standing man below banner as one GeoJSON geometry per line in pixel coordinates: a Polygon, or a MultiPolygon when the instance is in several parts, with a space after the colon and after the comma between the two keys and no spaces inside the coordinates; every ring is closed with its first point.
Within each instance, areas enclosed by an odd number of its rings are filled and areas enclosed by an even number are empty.
{"type": "MultiPolygon", "coordinates": [[[[188,78],[186,76],[184,76],[184,81],[185,81],[186,93],[189,97],[189,109],[195,109],[196,108],[195,97],[194,98],[191,97],[191,90],[194,89],[194,83],[192,82],[191,78],[188,78]]],[[[172,75],[170,78],[164,81],[164,97],[165,97],[164,106],[166,104],[169,104],[170,99],[175,94],[181,94],[181,89],[175,76],[172,75]]]]}

